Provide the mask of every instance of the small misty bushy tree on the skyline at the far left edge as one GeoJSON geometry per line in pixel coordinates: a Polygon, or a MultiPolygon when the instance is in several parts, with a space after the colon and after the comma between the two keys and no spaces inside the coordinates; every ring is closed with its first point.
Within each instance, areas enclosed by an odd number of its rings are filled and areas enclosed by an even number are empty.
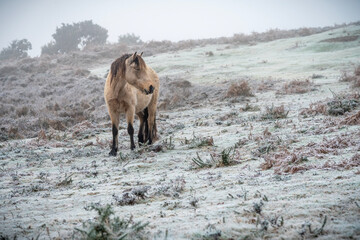
{"type": "Polygon", "coordinates": [[[27,51],[31,50],[31,43],[27,39],[13,40],[10,46],[3,48],[0,52],[0,60],[18,59],[28,56],[27,51]]]}

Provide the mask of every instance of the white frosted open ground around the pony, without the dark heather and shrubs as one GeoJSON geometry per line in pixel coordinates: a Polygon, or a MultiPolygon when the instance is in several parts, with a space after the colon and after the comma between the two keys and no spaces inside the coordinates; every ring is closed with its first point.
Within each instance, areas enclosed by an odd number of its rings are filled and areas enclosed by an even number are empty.
{"type": "MultiPolygon", "coordinates": [[[[334,93],[358,99],[359,89],[338,80],[340,70],[360,63],[359,39],[320,42],[347,34],[359,35],[360,27],[146,58],[161,79],[211,90],[245,79],[255,96],[225,98],[225,88],[216,93],[221,96],[204,95],[201,103],[160,110],[156,147],[133,152],[121,125],[118,157],[108,157],[109,121],[1,142],[0,233],[71,238],[96,216],[86,208],[99,203],[111,204],[119,217],[149,222],[150,239],[360,238],[360,125],[342,123],[359,106],[343,116],[300,114],[334,93]],[[214,56],[206,56],[209,51],[214,56]],[[308,78],[309,91],[282,92],[285,83],[308,78]],[[253,109],[244,110],[247,104],[253,109]],[[284,105],[288,115],[264,119],[272,105],[284,105]],[[199,146],[204,139],[208,144],[199,146]],[[198,168],[193,162],[197,155],[204,162],[210,154],[218,159],[230,148],[231,166],[198,168]],[[264,167],[271,157],[284,163],[264,167]],[[121,205],[124,193],[136,189],[146,189],[144,198],[121,205]]],[[[103,77],[107,68],[89,70],[103,77]]]]}

